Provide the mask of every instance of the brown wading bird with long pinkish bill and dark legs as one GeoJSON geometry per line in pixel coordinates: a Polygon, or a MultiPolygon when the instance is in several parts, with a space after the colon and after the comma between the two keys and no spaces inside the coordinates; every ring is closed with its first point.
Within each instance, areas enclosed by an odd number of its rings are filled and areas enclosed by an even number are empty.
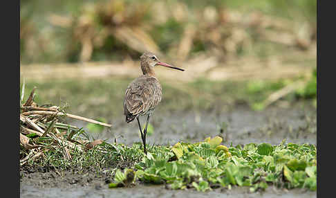
{"type": "Polygon", "coordinates": [[[126,116],[126,122],[131,123],[135,118],[138,120],[145,154],[147,154],[146,134],[149,118],[162,97],[162,88],[153,70],[154,66],[157,65],[184,71],[184,69],[160,62],[158,57],[153,55],[153,53],[144,53],[140,56],[140,66],[143,75],[129,84],[124,96],[124,115],[126,116]],[[139,116],[147,116],[144,132],[142,132],[139,116]]]}

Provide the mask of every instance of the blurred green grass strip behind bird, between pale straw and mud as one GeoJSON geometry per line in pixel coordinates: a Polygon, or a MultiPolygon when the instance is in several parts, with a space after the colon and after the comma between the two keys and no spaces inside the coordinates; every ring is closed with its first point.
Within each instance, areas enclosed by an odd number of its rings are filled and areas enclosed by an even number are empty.
{"type": "MultiPolygon", "coordinates": [[[[185,84],[162,81],[160,112],[172,111],[225,111],[238,105],[254,109],[275,91],[301,78],[281,80],[211,81],[197,79],[185,84]]],[[[38,105],[67,106],[71,114],[90,118],[111,118],[123,114],[124,90],[131,78],[90,78],[85,80],[54,80],[53,82],[26,82],[25,98],[37,87],[35,102],[38,105]]],[[[21,84],[22,87],[22,84],[21,84]]],[[[304,101],[316,103],[316,75],[312,75],[303,89],[292,91],[280,100],[289,105],[304,101]]],[[[256,109],[257,110],[257,109],[256,109]]]]}

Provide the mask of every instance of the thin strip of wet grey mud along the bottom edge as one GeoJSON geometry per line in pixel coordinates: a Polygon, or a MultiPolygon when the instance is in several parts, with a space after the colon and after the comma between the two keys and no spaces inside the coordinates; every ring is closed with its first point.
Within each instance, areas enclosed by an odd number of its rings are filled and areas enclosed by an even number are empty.
{"type": "Polygon", "coordinates": [[[307,191],[304,189],[277,189],[269,187],[264,192],[249,192],[249,188],[232,188],[227,190],[225,188],[217,188],[212,191],[207,192],[197,192],[194,189],[187,190],[167,190],[165,186],[147,186],[140,185],[133,188],[117,188],[117,189],[107,189],[102,188],[46,188],[41,190],[34,186],[21,185],[21,197],[185,197],[185,198],[201,198],[201,197],[279,197],[279,198],[289,198],[289,197],[317,197],[316,192],[307,191]]]}

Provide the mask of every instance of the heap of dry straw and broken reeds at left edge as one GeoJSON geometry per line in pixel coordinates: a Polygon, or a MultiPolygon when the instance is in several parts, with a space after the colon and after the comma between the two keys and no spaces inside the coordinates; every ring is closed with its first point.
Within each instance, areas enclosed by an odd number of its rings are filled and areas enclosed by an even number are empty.
{"type": "MultiPolygon", "coordinates": [[[[24,86],[22,89],[21,93],[24,93],[24,86]]],[[[26,102],[23,103],[23,96],[20,98],[20,165],[39,159],[49,150],[62,150],[64,159],[71,160],[71,150],[83,152],[103,142],[96,140],[91,143],[76,136],[76,134],[80,134],[82,129],[62,123],[60,118],[68,117],[105,127],[112,125],[82,116],[66,114],[64,108],[57,106],[38,107],[33,101],[35,89],[36,87],[32,89],[26,102]]]]}

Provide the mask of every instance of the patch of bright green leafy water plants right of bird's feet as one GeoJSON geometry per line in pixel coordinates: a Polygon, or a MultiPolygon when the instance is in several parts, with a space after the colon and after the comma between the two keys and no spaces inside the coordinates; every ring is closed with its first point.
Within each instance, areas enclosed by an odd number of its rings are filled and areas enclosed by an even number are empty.
{"type": "MultiPolygon", "coordinates": [[[[199,143],[155,146],[136,163],[135,179],[166,183],[171,189],[212,190],[221,186],[250,186],[250,191],[269,185],[316,190],[315,145],[250,143],[226,147],[222,138],[199,143]]],[[[122,181],[122,179],[116,179],[122,181]]],[[[112,187],[118,185],[111,184],[112,187]]]]}

